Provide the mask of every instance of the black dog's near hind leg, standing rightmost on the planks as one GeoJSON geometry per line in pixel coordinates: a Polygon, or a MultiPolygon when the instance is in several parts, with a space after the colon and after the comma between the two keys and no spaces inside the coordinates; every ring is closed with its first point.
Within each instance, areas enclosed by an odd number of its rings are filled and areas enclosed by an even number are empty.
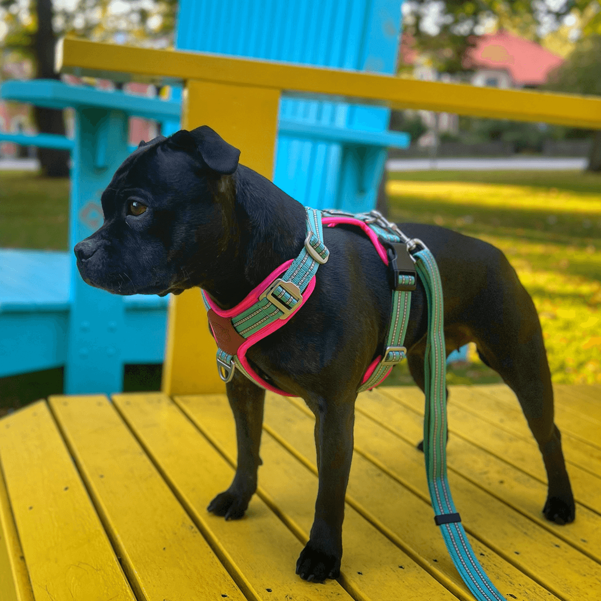
{"type": "MultiPolygon", "coordinates": [[[[521,286],[520,286],[521,288],[521,286]]],[[[558,524],[572,522],[575,504],[566,471],[561,434],[554,423],[551,372],[543,343],[543,333],[534,303],[523,288],[514,292],[517,304],[509,313],[505,327],[499,323],[493,335],[476,336],[479,352],[515,392],[528,426],[545,462],[549,483],[543,513],[558,524]]]]}

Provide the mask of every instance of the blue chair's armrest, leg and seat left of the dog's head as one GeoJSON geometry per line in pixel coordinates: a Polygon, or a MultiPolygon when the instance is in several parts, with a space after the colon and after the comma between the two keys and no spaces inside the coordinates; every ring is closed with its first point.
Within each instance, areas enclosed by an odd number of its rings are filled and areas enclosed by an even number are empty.
{"type": "MultiPolygon", "coordinates": [[[[56,81],[9,81],[1,96],[75,109],[73,140],[0,136],[72,151],[70,248],[102,224],[100,194],[132,150],[129,117],[177,124],[180,115],[177,102],[56,81]]],[[[88,286],[73,252],[0,249],[0,377],[64,365],[69,394],[120,391],[124,364],[162,361],[166,306],[157,296],[119,297],[88,286]]]]}

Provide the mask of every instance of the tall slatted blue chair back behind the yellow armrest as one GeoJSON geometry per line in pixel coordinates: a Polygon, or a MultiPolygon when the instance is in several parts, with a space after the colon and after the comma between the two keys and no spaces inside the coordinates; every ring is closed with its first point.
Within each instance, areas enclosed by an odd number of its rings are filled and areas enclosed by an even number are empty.
{"type": "MultiPolygon", "coordinates": [[[[400,7],[398,0],[181,0],[175,45],[393,73],[400,7]]],[[[282,99],[273,182],[309,206],[373,209],[385,148],[409,144],[386,132],[388,118],[388,109],[282,99]]]]}

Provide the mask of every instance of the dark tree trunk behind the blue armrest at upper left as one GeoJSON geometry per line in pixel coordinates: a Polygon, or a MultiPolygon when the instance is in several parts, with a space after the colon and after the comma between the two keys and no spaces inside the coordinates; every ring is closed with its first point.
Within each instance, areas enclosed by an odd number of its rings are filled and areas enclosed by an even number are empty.
{"type": "MultiPolygon", "coordinates": [[[[58,73],[54,70],[56,36],[52,29],[52,0],[37,0],[35,12],[38,22],[37,34],[35,34],[37,78],[58,79],[58,73]]],[[[34,117],[38,132],[65,135],[63,111],[36,106],[34,117]]],[[[44,175],[48,177],[69,177],[69,155],[68,150],[38,148],[38,158],[44,175]]]]}

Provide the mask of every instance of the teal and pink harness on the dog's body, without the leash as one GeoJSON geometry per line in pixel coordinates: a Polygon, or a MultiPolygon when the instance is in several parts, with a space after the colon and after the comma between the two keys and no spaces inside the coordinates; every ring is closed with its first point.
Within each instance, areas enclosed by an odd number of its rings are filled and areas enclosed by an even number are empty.
{"type": "MultiPolygon", "coordinates": [[[[246,298],[228,310],[222,310],[203,290],[203,300],[209,314],[209,323],[218,345],[217,368],[219,377],[229,382],[236,369],[259,386],[291,396],[260,377],[246,358],[246,351],[257,341],[285,325],[313,293],[315,276],[320,265],[326,263],[329,251],[323,243],[323,225],[355,225],[370,238],[377,254],[389,267],[392,288],[392,316],[382,353],[368,366],[358,392],[374,388],[405,358],[403,345],[416,274],[413,260],[400,237],[377,211],[346,213],[338,210],[319,211],[305,207],[307,237],[304,248],[294,260],[275,269],[246,298]]],[[[396,226],[395,226],[396,227],[396,226]]]]}

